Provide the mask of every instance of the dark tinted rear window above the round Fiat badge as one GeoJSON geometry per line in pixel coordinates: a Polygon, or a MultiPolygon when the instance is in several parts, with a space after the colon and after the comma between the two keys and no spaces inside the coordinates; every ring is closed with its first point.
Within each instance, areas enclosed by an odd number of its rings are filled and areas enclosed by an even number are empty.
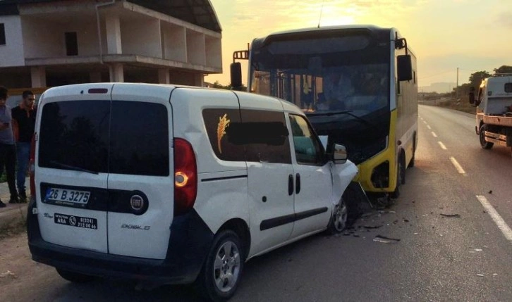
{"type": "Polygon", "coordinates": [[[110,172],[169,176],[166,106],[140,101],[112,101],[110,172]]]}

